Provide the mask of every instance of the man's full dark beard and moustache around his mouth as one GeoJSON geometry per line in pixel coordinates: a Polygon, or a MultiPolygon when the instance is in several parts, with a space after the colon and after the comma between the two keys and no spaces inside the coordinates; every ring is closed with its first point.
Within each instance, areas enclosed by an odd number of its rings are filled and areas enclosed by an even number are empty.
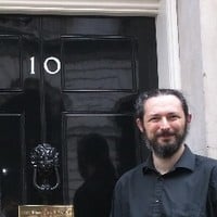
{"type": "Polygon", "coordinates": [[[180,133],[169,133],[169,132],[162,132],[167,136],[173,135],[175,137],[175,141],[171,142],[164,142],[164,144],[157,142],[158,136],[155,136],[153,139],[149,139],[146,135],[144,135],[145,143],[149,149],[151,149],[154,154],[161,158],[169,158],[171,157],[182,145],[187,135],[188,135],[188,126],[186,124],[183,131],[180,133]]]}

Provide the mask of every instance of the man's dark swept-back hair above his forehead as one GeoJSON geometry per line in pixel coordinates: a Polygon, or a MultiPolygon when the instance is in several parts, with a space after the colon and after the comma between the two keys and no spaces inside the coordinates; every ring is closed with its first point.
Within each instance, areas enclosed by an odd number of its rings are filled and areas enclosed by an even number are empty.
{"type": "Polygon", "coordinates": [[[189,106],[187,103],[186,98],[183,97],[183,94],[179,91],[179,90],[175,90],[175,89],[154,89],[154,90],[150,90],[146,92],[142,92],[139,94],[136,104],[135,104],[135,108],[136,108],[136,118],[143,118],[144,115],[144,103],[150,99],[150,98],[154,98],[154,97],[158,97],[158,95],[175,95],[177,97],[182,105],[183,108],[183,113],[184,116],[187,117],[189,115],[189,106]]]}

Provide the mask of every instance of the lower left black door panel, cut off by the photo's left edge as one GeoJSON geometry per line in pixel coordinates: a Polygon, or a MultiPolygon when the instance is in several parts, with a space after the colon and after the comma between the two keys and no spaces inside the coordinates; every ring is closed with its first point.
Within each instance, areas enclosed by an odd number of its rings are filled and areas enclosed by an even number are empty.
{"type": "Polygon", "coordinates": [[[1,207],[12,207],[10,216],[14,216],[14,208],[17,208],[22,194],[24,194],[22,150],[23,146],[23,115],[0,114],[0,165],[1,165],[1,207]],[[13,136],[12,136],[13,135],[13,136]]]}

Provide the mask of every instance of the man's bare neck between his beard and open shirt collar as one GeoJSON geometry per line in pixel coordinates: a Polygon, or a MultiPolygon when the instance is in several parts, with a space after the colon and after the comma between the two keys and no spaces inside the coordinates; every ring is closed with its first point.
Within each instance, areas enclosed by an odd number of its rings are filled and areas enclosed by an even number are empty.
{"type": "Polygon", "coordinates": [[[169,158],[162,158],[156,156],[153,153],[153,163],[156,168],[156,170],[161,174],[167,174],[171,170],[174,165],[178,162],[178,159],[181,157],[182,153],[184,151],[184,144],[180,146],[180,149],[169,158]]]}

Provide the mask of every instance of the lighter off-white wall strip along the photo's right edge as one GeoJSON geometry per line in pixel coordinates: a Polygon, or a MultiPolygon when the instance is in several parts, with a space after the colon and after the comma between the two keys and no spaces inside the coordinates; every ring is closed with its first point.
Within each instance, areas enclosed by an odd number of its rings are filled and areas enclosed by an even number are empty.
{"type": "Polygon", "coordinates": [[[200,0],[206,145],[217,158],[217,1],[200,0]]]}

